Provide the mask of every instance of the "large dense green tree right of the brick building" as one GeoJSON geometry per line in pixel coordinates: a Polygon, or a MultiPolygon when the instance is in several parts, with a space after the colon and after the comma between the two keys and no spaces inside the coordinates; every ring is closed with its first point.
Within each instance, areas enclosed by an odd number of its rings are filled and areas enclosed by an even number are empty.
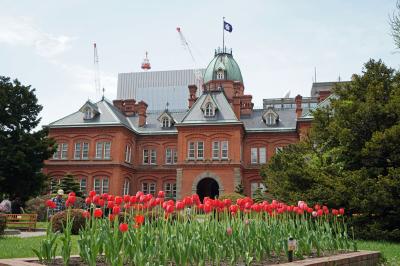
{"type": "Polygon", "coordinates": [[[262,169],[275,197],[344,206],[360,237],[400,240],[400,73],[370,60],[262,169]]]}

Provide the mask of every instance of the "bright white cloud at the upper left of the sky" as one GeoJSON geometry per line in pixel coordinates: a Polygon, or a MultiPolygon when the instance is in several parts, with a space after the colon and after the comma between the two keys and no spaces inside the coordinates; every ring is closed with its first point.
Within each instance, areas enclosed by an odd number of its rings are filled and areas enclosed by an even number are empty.
{"type": "Polygon", "coordinates": [[[40,56],[53,57],[70,48],[74,38],[38,29],[29,17],[0,17],[0,43],[30,46],[40,56]]]}

